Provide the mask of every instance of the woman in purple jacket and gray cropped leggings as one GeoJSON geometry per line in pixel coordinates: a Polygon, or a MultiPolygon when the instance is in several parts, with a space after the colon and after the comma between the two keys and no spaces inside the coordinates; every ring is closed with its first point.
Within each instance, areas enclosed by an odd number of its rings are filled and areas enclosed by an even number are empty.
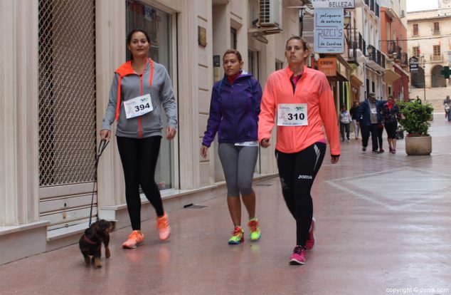
{"type": "Polygon", "coordinates": [[[252,75],[243,71],[243,64],[240,52],[235,49],[224,53],[226,74],[213,86],[201,148],[201,156],[205,158],[218,133],[218,154],[226,177],[227,205],[234,226],[228,244],[244,242],[240,195],[249,214],[250,240],[260,239],[252,181],[258,157],[257,130],[262,88],[252,75]]]}

